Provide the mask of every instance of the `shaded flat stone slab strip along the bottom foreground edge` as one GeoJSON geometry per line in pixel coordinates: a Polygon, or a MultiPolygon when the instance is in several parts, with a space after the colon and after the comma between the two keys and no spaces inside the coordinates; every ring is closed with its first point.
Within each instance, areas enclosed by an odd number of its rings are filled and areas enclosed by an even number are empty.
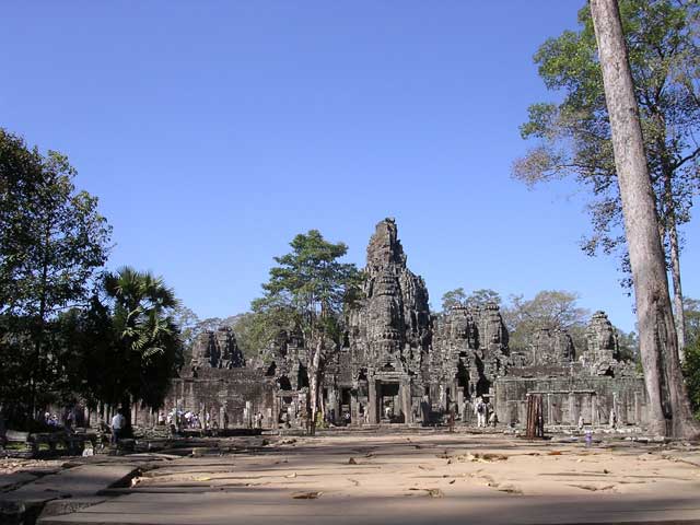
{"type": "Polygon", "coordinates": [[[412,525],[441,523],[570,525],[700,524],[696,499],[619,499],[479,497],[479,498],[326,498],[294,500],[279,491],[242,491],[198,494],[130,494],[47,517],[42,525],[139,524],[139,525],[412,525]]]}

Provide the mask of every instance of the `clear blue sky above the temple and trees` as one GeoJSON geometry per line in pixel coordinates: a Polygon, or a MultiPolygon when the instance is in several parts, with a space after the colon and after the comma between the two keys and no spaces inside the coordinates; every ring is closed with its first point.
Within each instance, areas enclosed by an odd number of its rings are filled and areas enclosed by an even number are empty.
{"type": "Polygon", "coordinates": [[[532,56],[582,4],[7,2],[0,126],[68,154],[114,225],[109,266],[162,275],[200,317],[245,311],[313,228],[363,266],[388,215],[435,307],[563,289],[631,329],[617,262],[579,248],[585,195],[510,178],[527,105],[555,97],[532,56]]]}

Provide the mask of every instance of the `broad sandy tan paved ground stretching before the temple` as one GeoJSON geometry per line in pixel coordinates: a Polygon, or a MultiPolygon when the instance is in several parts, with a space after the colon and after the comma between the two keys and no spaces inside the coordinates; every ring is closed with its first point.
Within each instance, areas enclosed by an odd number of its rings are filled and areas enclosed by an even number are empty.
{"type": "Polygon", "coordinates": [[[194,448],[45,523],[700,523],[700,446],[334,432],[194,448]]]}

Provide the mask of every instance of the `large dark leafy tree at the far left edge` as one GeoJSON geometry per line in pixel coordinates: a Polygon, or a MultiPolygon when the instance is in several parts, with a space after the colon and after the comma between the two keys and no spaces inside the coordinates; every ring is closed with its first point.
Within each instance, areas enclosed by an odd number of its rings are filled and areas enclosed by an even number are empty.
{"type": "Polygon", "coordinates": [[[32,417],[57,381],[58,315],[86,301],[107,258],[110,228],[74,176],[65,155],[0,129],[0,384],[32,417]]]}

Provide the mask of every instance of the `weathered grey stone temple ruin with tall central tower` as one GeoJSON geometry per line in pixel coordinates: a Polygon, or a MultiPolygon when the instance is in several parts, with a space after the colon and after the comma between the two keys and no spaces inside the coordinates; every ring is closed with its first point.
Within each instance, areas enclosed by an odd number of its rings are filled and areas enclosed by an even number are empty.
{"type": "MultiPolygon", "coordinates": [[[[322,410],[336,424],[429,424],[450,412],[471,422],[472,402],[491,401],[501,423],[525,423],[527,397],[542,396],[548,425],[643,425],[646,395],[633,363],[619,359],[616,331],[593,315],[586,348],[564,331],[540,330],[525,351],[509,349],[499,306],[431,314],[428,289],[407,266],[393,219],[366,253],[362,298],[346,316],[339,348],[326,358],[322,410]]],[[[208,412],[219,424],[304,423],[310,352],[299,334],[280,334],[246,363],[230,328],[202,334],[191,366],[174,382],[171,407],[208,412]]]]}

